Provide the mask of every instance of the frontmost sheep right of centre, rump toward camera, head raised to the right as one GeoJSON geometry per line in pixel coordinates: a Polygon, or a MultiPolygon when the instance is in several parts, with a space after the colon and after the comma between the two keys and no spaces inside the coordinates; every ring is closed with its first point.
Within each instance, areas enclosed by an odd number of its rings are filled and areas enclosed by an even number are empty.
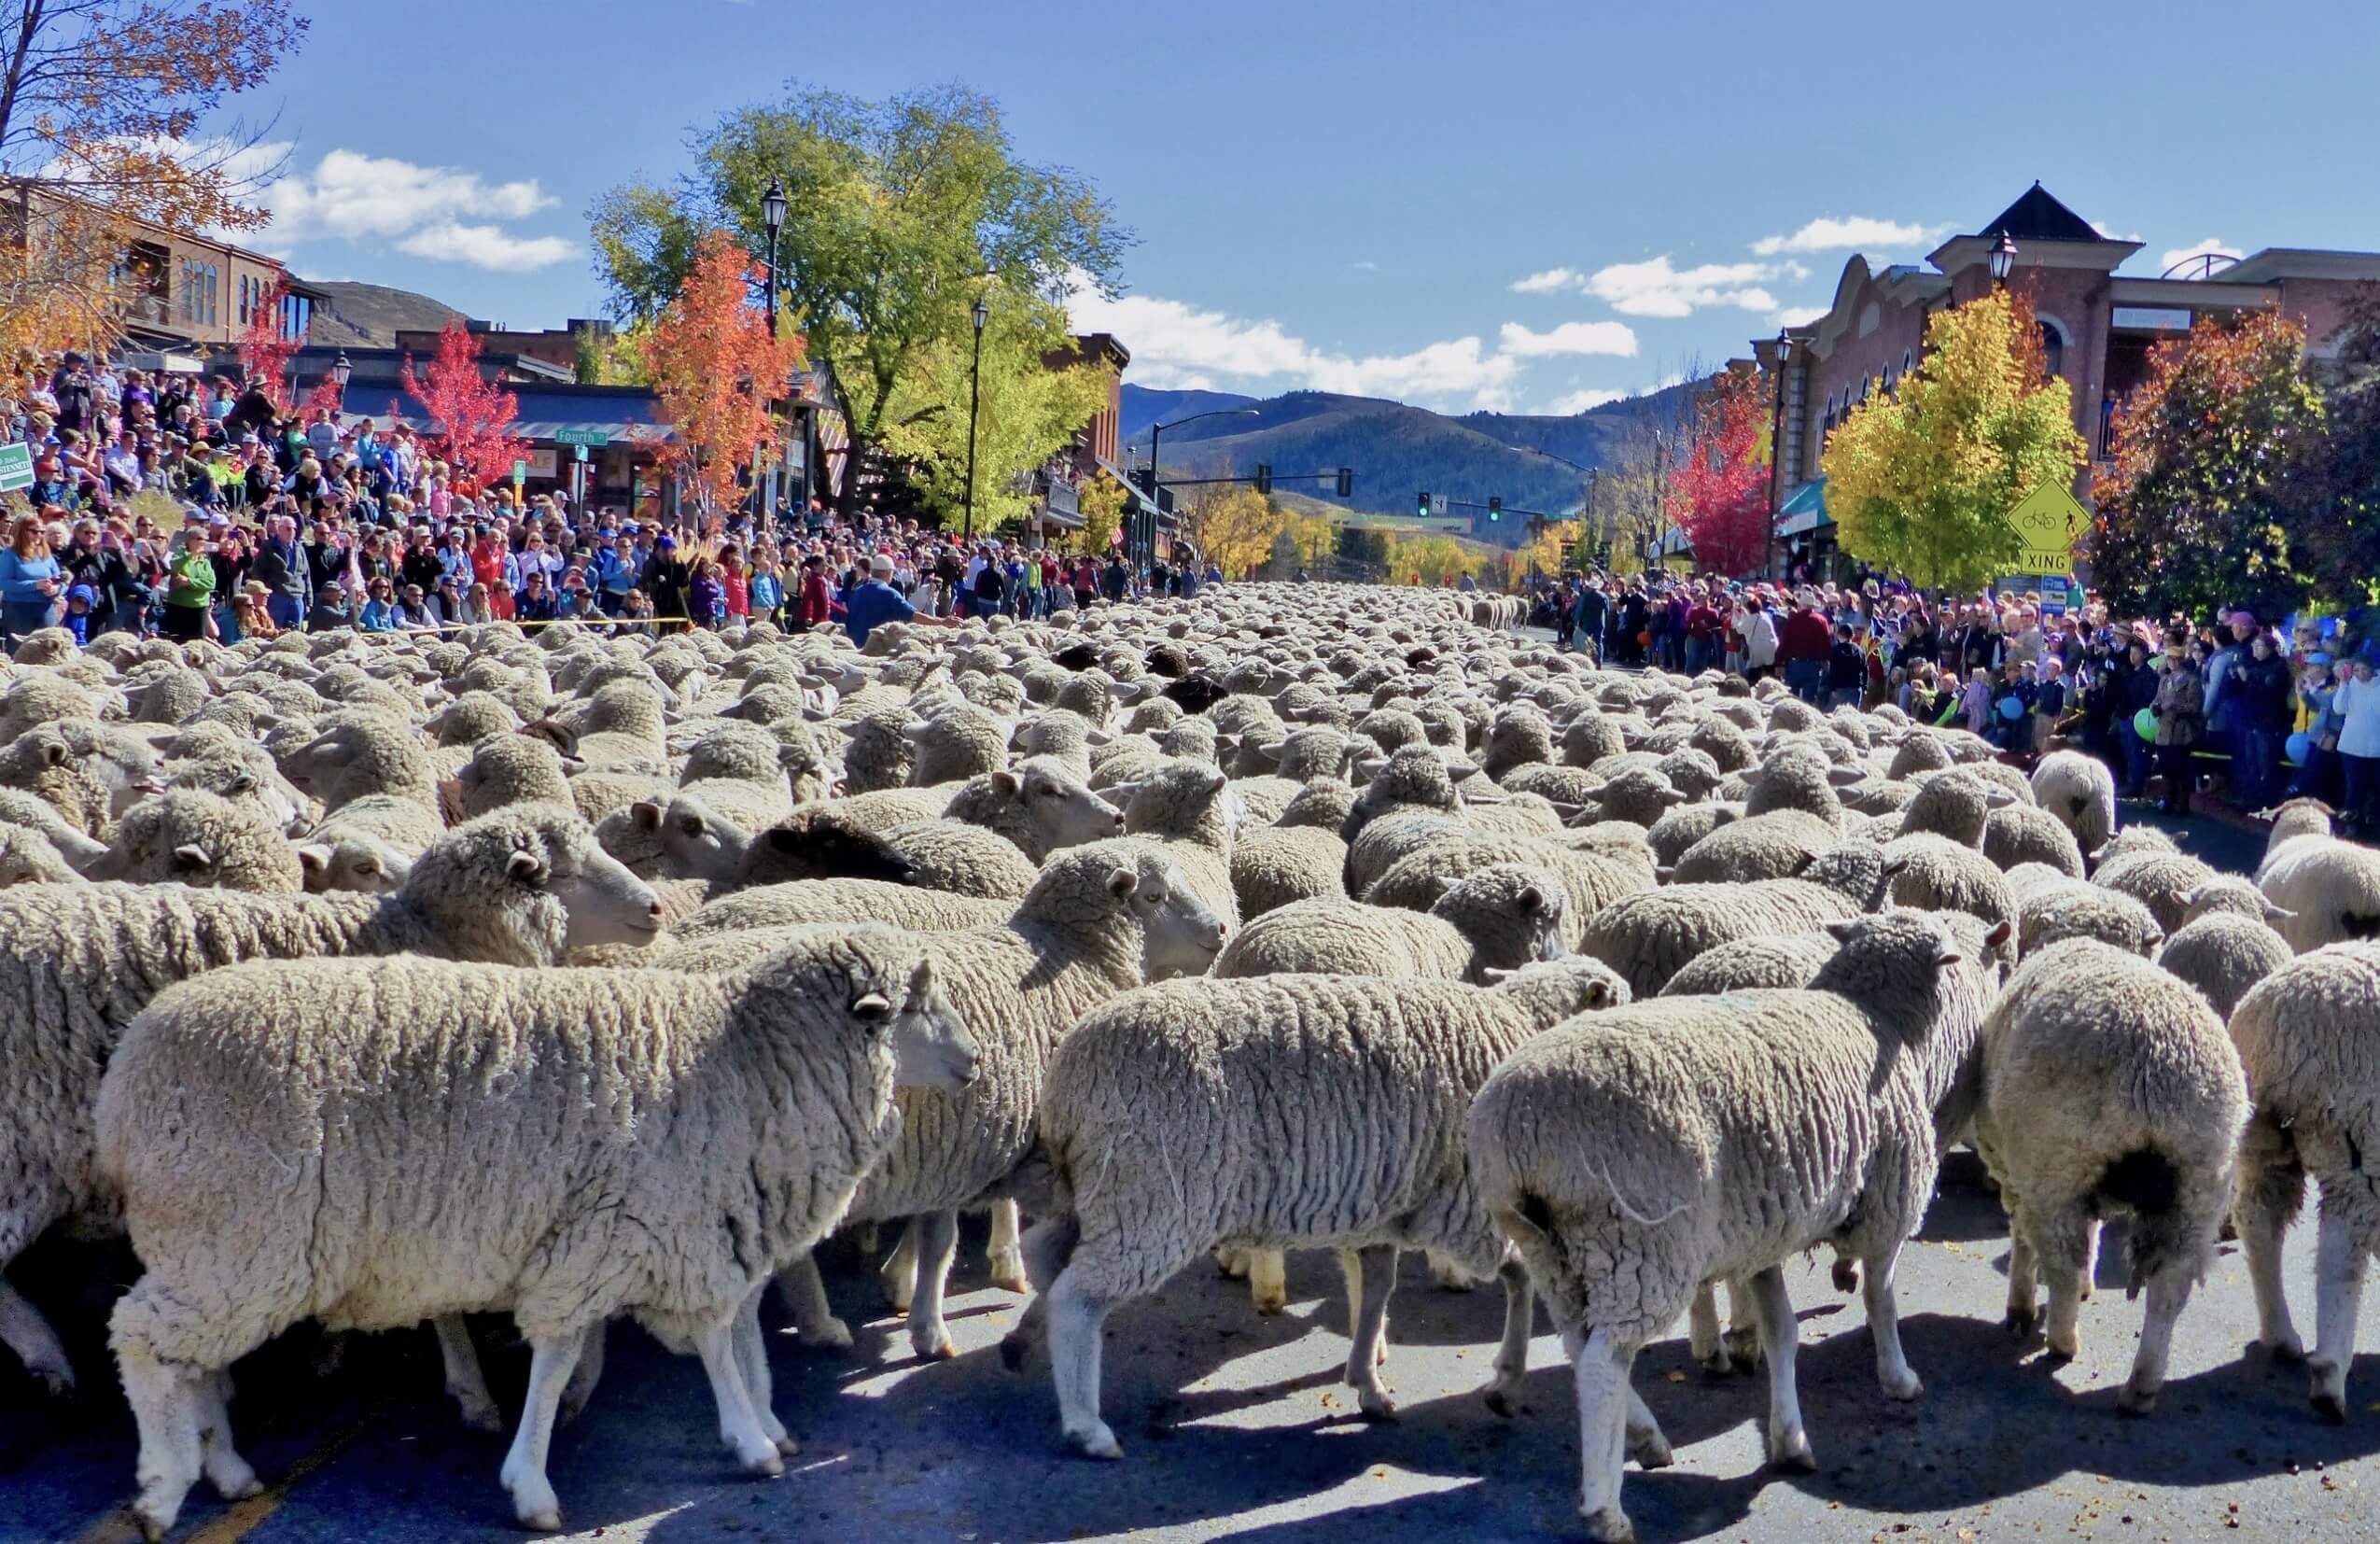
{"type": "Polygon", "coordinates": [[[1573,1358],[1595,1539],[1635,1537],[1623,1454],[1668,1461],[1628,1373],[1699,1282],[1747,1278],[1771,1463],[1816,1465],[1795,1389],[1790,1254],[1833,1244],[1859,1259],[1878,1382],[1890,1399],[1923,1392],[1892,1280],[1933,1199],[1935,1104],[1971,1054],[1952,1025],[1980,1018],[1983,975],[1954,968],[1952,933],[1916,911],[1830,930],[1842,949],[1811,990],[1578,1018],[1516,1049],[1471,1101],[1480,1199],[1573,1358]]]}

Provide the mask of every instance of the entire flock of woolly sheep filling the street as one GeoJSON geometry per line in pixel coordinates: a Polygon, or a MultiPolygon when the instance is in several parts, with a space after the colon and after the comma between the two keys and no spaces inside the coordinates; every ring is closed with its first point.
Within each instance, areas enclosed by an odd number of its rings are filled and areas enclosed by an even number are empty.
{"type": "MultiPolygon", "coordinates": [[[[2130,1411],[2225,1225],[2304,1356],[2311,1178],[2344,1418],[2380,852],[2294,802],[2254,883],[2218,875],[2116,830],[2078,754],[2028,780],[1890,707],[1606,673],[1514,621],[1245,585],[862,652],[36,633],[0,692],[0,1268],[129,1232],[150,1537],[200,1477],[255,1492],[228,1368],[305,1320],[433,1323],[495,1430],[464,1316],[509,1313],[528,1527],[612,1316],[700,1356],[728,1451],[783,1473],[769,1282],[850,1344],[812,1249],[897,1228],[883,1289],[952,1356],[957,1216],[990,1209],[995,1285],[1035,1292],[1002,1356],[1047,1342],[1069,1446],[1119,1456],[1102,1320],[1209,1251],[1257,1311],[1285,1249],[1338,1251],[1347,1382],[1392,1413],[1418,1249],[1504,1287],[1499,1413],[1549,1308],[1587,1527],[1628,1539],[1626,1458],[1668,1461],[1630,1363],[1680,1316],[1704,1366],[1766,1363],[1768,1456],[1814,1463],[1795,1254],[1830,1247],[1885,1394],[1921,1394],[1894,1261],[1954,1142],[2054,1354],[2128,1218],[2130,1411]]],[[[74,1382],[5,1280],[0,1342],[74,1382]]]]}

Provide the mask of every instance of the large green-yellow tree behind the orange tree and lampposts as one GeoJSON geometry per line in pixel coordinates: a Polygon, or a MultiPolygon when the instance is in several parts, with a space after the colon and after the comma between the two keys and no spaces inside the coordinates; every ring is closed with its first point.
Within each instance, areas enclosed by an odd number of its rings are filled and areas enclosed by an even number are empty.
{"type": "MultiPolygon", "coordinates": [[[[778,281],[802,316],[809,359],[843,390],[862,469],[892,443],[940,454],[938,419],[950,412],[964,433],[964,371],[952,374],[952,350],[971,347],[969,312],[985,293],[1014,340],[995,359],[985,338],[985,400],[1016,402],[1012,426],[1033,419],[1023,402],[1061,388],[1026,381],[1012,390],[995,383],[995,369],[1045,376],[1042,352],[1066,340],[1066,293],[1111,293],[1130,243],[1085,178],[1019,159],[1000,105],[964,86],[881,102],[793,86],[783,102],[721,114],[697,131],[693,152],[674,186],[628,183],[588,212],[614,314],[638,319],[666,305],[709,226],[762,257],[762,193],[778,178],[778,281]]],[[[933,488],[942,471],[928,466],[933,488]]],[[[845,507],[854,495],[845,478],[845,507]]],[[[978,511],[981,497],[978,464],[978,511]]]]}

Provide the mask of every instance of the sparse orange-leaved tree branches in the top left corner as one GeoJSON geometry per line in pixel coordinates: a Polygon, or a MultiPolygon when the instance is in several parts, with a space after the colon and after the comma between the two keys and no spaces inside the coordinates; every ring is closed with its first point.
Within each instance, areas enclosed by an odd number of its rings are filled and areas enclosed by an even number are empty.
{"type": "MultiPolygon", "coordinates": [[[[167,321],[140,226],[255,231],[281,155],[219,121],[305,40],[293,0],[17,0],[0,19],[0,347],[107,345],[167,321]]],[[[228,281],[228,274],[221,276],[228,281]]],[[[207,297],[198,297],[205,305],[207,297]]],[[[228,295],[214,305],[231,307],[228,295]]]]}

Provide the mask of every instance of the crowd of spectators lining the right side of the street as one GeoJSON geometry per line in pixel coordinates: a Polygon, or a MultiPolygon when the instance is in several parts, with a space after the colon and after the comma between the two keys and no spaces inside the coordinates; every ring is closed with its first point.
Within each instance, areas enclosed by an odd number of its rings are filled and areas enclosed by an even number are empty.
{"type": "Polygon", "coordinates": [[[2313,795],[2380,830],[2380,642],[2349,647],[2337,616],[2121,621],[2097,595],[2068,600],[1592,573],[1549,588],[1537,616],[1611,664],[1778,676],[1818,707],[1892,702],[2018,761],[2078,745],[2130,799],[2156,780],[2175,814],[2221,785],[2244,811],[2313,795]]]}

